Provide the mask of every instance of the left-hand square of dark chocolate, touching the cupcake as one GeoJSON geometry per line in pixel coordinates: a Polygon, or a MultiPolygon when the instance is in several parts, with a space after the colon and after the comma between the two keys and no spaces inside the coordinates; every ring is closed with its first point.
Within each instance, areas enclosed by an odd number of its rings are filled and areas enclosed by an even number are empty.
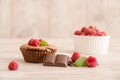
{"type": "Polygon", "coordinates": [[[55,63],[55,55],[54,54],[47,54],[43,65],[54,66],[55,65],[54,63],[55,63]]]}

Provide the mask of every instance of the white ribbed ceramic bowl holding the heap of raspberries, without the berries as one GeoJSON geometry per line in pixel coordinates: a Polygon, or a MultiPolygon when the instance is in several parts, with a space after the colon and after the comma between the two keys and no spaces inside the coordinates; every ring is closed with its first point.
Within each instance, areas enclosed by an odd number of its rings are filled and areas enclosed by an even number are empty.
{"type": "Polygon", "coordinates": [[[75,51],[88,55],[106,55],[110,36],[78,36],[74,35],[75,51]]]}

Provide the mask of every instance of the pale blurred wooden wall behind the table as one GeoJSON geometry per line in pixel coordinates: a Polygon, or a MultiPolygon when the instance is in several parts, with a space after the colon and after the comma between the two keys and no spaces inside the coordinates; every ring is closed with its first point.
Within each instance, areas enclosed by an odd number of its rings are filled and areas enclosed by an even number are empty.
{"type": "Polygon", "coordinates": [[[70,38],[87,25],[120,38],[120,0],[0,0],[0,38],[70,38]]]}

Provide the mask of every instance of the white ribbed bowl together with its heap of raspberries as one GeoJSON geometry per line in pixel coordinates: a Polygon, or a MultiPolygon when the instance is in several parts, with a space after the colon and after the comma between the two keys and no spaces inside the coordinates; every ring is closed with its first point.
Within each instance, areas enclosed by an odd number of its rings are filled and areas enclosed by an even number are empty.
{"type": "Polygon", "coordinates": [[[88,55],[106,55],[110,36],[96,27],[83,27],[74,32],[75,51],[88,55]]]}

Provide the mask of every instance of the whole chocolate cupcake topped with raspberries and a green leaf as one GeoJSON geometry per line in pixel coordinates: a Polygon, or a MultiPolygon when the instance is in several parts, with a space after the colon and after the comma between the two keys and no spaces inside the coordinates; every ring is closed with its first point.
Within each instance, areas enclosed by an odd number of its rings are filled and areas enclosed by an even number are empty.
{"type": "Polygon", "coordinates": [[[25,62],[42,63],[47,54],[55,54],[57,48],[44,40],[30,39],[28,44],[20,46],[25,62]]]}

